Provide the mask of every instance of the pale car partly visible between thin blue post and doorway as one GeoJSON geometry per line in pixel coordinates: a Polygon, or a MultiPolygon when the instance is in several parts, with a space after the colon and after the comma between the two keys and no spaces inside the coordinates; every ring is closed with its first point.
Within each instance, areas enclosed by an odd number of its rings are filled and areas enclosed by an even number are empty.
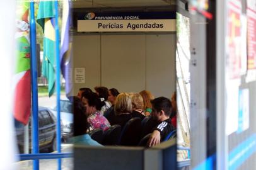
{"type": "MultiPolygon", "coordinates": [[[[61,99],[61,123],[62,123],[62,140],[66,142],[69,137],[73,136],[73,104],[69,100],[61,99]]],[[[57,117],[57,107],[52,109],[52,113],[57,117]]]]}

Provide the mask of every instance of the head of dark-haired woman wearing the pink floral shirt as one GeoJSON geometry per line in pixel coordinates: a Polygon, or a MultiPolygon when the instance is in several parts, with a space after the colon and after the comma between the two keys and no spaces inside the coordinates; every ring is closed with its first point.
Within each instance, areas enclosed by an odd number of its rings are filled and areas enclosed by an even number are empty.
{"type": "Polygon", "coordinates": [[[105,105],[104,101],[101,101],[96,93],[83,93],[82,101],[86,107],[86,114],[91,115],[95,111],[102,109],[105,105]]]}

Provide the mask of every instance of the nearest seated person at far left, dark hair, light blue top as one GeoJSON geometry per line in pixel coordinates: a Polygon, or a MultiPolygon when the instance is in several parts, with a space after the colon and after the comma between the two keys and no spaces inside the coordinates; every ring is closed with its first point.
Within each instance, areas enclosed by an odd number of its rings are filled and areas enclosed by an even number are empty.
{"type": "Polygon", "coordinates": [[[86,134],[86,130],[90,127],[90,124],[87,122],[87,116],[85,115],[86,108],[84,107],[81,99],[73,96],[71,98],[71,102],[73,102],[74,113],[74,137],[68,139],[68,142],[73,144],[102,146],[95,140],[91,139],[90,135],[86,134]]]}

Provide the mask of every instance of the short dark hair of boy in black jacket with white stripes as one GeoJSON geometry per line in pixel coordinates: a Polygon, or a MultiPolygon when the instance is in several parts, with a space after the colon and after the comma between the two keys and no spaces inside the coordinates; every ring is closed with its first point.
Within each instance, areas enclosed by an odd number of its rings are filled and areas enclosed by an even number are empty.
{"type": "Polygon", "coordinates": [[[160,112],[161,110],[163,110],[165,111],[166,116],[171,115],[172,103],[170,99],[165,97],[155,98],[151,101],[151,104],[156,111],[160,112]]]}

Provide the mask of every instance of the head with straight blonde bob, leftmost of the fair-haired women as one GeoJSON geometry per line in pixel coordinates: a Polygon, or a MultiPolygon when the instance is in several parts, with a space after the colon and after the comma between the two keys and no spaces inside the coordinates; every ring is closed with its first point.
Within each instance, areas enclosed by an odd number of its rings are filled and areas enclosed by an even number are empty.
{"type": "Polygon", "coordinates": [[[128,93],[120,93],[115,100],[115,114],[132,112],[132,100],[128,93]]]}

